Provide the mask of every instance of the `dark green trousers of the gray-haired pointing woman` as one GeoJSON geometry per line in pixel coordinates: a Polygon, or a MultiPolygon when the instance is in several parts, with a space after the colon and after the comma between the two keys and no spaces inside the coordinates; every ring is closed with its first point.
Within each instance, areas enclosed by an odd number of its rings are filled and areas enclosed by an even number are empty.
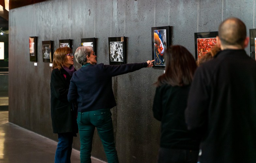
{"type": "Polygon", "coordinates": [[[110,109],[78,112],[77,124],[81,143],[81,163],[91,163],[92,140],[95,127],[97,128],[108,162],[118,163],[111,115],[110,109]]]}

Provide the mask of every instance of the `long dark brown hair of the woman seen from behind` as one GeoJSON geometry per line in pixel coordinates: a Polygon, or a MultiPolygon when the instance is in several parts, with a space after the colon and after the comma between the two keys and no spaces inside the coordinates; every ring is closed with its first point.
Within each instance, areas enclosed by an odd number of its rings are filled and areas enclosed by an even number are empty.
{"type": "Polygon", "coordinates": [[[157,87],[163,84],[185,86],[192,82],[197,68],[192,54],[181,45],[168,47],[164,52],[165,73],[158,77],[157,87]]]}

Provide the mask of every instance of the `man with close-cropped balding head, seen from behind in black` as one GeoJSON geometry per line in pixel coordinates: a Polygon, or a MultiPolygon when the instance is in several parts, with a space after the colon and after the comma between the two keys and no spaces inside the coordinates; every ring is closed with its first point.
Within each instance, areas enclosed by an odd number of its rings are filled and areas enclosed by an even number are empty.
{"type": "Polygon", "coordinates": [[[185,111],[201,139],[200,163],[256,162],[256,62],[237,18],[219,25],[215,58],[198,67],[185,111]]]}

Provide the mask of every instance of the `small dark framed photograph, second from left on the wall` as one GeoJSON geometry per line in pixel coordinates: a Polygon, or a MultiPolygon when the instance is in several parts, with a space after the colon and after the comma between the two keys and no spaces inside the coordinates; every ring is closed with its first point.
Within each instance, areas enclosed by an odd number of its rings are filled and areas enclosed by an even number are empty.
{"type": "Polygon", "coordinates": [[[53,41],[42,41],[43,62],[53,62],[53,41]]]}

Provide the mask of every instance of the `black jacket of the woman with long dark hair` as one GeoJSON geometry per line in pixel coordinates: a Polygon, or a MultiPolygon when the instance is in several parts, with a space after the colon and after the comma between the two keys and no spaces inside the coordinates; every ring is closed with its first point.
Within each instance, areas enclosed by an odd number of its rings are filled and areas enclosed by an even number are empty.
{"type": "Polygon", "coordinates": [[[154,117],[161,121],[160,147],[198,150],[199,140],[188,131],[184,111],[187,107],[189,86],[162,85],[157,87],[153,103],[154,117]]]}

